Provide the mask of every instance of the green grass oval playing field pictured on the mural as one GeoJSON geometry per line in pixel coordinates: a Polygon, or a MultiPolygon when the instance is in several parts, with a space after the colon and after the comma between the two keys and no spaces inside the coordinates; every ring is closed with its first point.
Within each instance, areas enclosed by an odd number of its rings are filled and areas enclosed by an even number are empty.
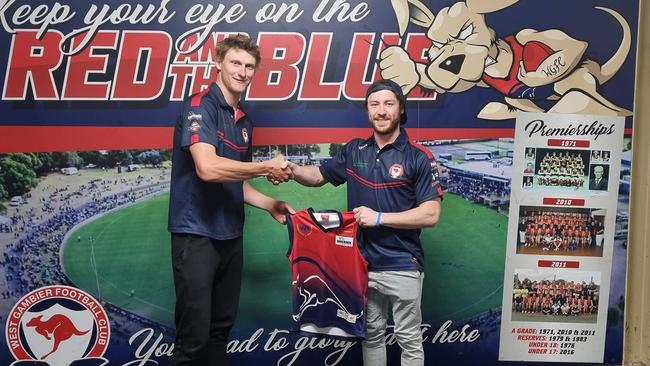
{"type": "MultiPolygon", "coordinates": [[[[290,182],[275,187],[263,179],[253,184],[296,209],[346,208],[345,186],[305,188],[290,182]]],[[[95,296],[99,284],[103,300],[172,325],[168,200],[168,194],[156,196],[78,228],[64,247],[66,274],[95,296]],[[91,260],[93,248],[97,276],[91,260]]],[[[440,223],[423,230],[421,236],[427,256],[422,305],[425,322],[460,320],[501,306],[506,229],[507,218],[496,211],[451,194],[445,196],[440,223]]],[[[266,212],[247,207],[244,239],[238,327],[288,326],[291,298],[286,227],[266,212]]]]}

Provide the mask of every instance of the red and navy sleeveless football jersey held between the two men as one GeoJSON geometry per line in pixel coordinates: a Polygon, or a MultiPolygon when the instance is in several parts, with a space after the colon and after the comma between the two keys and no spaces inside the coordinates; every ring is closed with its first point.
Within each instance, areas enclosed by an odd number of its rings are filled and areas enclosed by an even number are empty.
{"type": "Polygon", "coordinates": [[[368,263],[353,212],[287,215],[292,330],[308,336],[362,339],[366,333],[368,263]]]}

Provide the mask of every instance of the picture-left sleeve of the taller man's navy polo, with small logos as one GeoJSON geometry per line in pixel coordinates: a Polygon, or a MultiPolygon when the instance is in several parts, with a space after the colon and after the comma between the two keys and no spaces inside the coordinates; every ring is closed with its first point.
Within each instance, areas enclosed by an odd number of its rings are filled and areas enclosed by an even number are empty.
{"type": "Polygon", "coordinates": [[[178,118],[181,148],[187,150],[198,142],[217,147],[217,121],[204,106],[190,106],[187,103],[178,118]]]}

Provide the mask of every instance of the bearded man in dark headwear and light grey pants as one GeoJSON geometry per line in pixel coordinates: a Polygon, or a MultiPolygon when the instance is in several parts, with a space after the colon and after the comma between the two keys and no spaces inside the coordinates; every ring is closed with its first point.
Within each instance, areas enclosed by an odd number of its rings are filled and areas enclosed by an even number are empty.
{"type": "Polygon", "coordinates": [[[348,184],[348,210],[361,227],[369,269],[365,366],[386,365],[389,312],[402,366],[424,365],[420,229],[438,222],[442,189],[433,155],[410,141],[401,127],[407,120],[405,104],[395,82],[374,82],[365,102],[370,137],[353,139],[320,167],[291,164],[293,178],[302,185],[348,184]]]}

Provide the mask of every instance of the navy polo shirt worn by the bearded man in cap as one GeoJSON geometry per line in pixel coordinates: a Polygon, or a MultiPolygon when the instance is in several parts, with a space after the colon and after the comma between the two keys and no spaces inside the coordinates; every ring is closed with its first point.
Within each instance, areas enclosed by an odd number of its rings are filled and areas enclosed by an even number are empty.
{"type": "MultiPolygon", "coordinates": [[[[354,139],[320,167],[335,186],[348,184],[348,210],[366,206],[402,212],[442,197],[433,154],[411,143],[402,129],[394,143],[379,150],[373,136],[354,139]]],[[[373,227],[362,230],[363,254],[371,271],[424,269],[419,229],[373,227]]]]}

